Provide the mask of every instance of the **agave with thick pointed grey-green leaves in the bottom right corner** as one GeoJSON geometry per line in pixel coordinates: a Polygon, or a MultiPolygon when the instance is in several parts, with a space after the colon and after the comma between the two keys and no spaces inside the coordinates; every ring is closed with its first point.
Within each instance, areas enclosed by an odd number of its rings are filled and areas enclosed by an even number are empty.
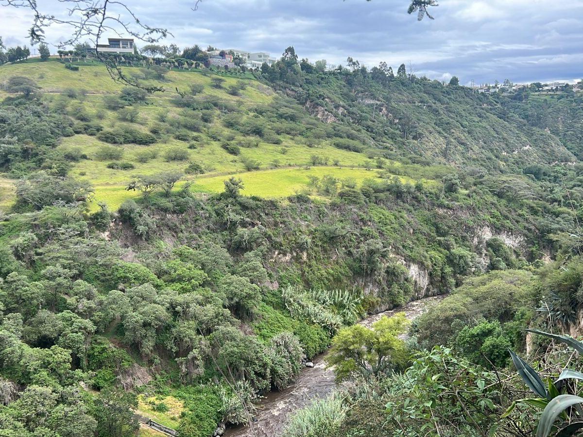
{"type": "MultiPolygon", "coordinates": [[[[560,343],[567,344],[567,346],[572,347],[580,354],[583,353],[583,343],[575,340],[573,337],[550,334],[539,331],[538,329],[527,329],[527,331],[550,337],[560,343]]],[[[554,381],[549,378],[545,384],[535,369],[513,351],[509,351],[518,374],[529,389],[539,397],[514,401],[502,417],[510,415],[517,403],[525,403],[534,407],[543,408],[543,413],[540,416],[539,424],[536,428],[536,437],[547,437],[553,430],[556,431],[556,437],[569,437],[581,431],[583,429],[583,407],[581,406],[583,404],[583,397],[571,393],[561,394],[561,390],[568,390],[566,382],[569,379],[583,380],[583,373],[571,369],[563,369],[559,378],[554,381]],[[569,418],[566,410],[571,407],[571,418],[569,418]],[[567,422],[567,424],[563,424],[562,427],[557,427],[554,422],[559,417],[563,419],[563,422],[567,422]]]]}

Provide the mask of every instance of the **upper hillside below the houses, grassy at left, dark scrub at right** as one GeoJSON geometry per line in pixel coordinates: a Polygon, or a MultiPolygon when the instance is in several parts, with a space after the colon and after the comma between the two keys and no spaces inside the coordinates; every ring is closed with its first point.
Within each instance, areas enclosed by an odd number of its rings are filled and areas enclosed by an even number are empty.
{"type": "MultiPolygon", "coordinates": [[[[69,128],[51,151],[51,161],[75,155],[66,164],[69,174],[91,182],[96,202],[113,209],[135,194],[124,191],[132,175],[162,170],[185,172],[184,180],[195,181],[193,189],[202,192],[219,191],[222,175],[237,174],[249,182],[248,193],[269,198],[301,191],[311,176],[325,173],[307,167],[322,164],[336,167],[331,170],[336,177],[361,182],[376,176],[371,169],[401,163],[522,172],[531,164],[575,159],[559,138],[529,126],[490,97],[436,82],[394,80],[381,86],[359,83],[359,77],[346,83],[337,74],[308,77],[301,89],[276,82],[276,89],[294,97],[289,98],[250,73],[176,70],[162,73],[160,82],[152,72],[126,68],[144,86],[168,90],[146,95],[124,90],[99,64],[79,65],[79,71],[54,61],[5,65],[0,80],[6,84],[22,75],[38,83],[45,111],[64,115],[69,128]],[[214,86],[213,78],[224,83],[214,86]],[[124,129],[151,132],[154,138],[107,149],[105,133],[124,129]],[[129,170],[108,168],[112,163],[125,163],[129,170]]],[[[3,135],[20,140],[35,135],[24,131],[5,127],[3,135]]],[[[46,167],[44,159],[37,157],[37,165],[46,167]]],[[[2,166],[7,177],[23,171],[14,156],[2,166]]],[[[5,191],[3,204],[9,202],[5,191]]]]}

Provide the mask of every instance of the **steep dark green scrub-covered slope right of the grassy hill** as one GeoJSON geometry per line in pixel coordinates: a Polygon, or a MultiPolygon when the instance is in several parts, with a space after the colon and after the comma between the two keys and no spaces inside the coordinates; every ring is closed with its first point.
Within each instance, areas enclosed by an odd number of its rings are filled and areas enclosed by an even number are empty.
{"type": "Polygon", "coordinates": [[[394,80],[382,86],[354,77],[347,84],[337,76],[318,76],[301,91],[315,107],[324,107],[340,122],[356,124],[371,140],[388,142],[389,149],[410,157],[512,172],[532,163],[575,160],[556,136],[508,114],[498,97],[436,81],[394,80]],[[380,104],[364,103],[371,99],[380,104]],[[408,139],[402,133],[405,119],[410,119],[408,139]]]}

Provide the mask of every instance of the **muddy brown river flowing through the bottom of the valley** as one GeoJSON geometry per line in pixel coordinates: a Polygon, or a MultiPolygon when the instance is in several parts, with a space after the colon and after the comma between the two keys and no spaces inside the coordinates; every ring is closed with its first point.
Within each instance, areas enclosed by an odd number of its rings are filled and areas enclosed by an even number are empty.
{"type": "MultiPolygon", "coordinates": [[[[361,320],[360,325],[370,327],[382,316],[392,316],[403,312],[408,320],[413,320],[430,306],[437,304],[444,296],[428,297],[410,302],[400,308],[385,311],[361,320]]],[[[335,387],[333,369],[326,369],[325,353],[314,359],[313,368],[304,368],[296,382],[282,392],[270,392],[259,403],[259,410],[251,426],[229,428],[226,437],[278,437],[282,435],[288,418],[296,410],[314,399],[332,393],[335,387]]]]}

